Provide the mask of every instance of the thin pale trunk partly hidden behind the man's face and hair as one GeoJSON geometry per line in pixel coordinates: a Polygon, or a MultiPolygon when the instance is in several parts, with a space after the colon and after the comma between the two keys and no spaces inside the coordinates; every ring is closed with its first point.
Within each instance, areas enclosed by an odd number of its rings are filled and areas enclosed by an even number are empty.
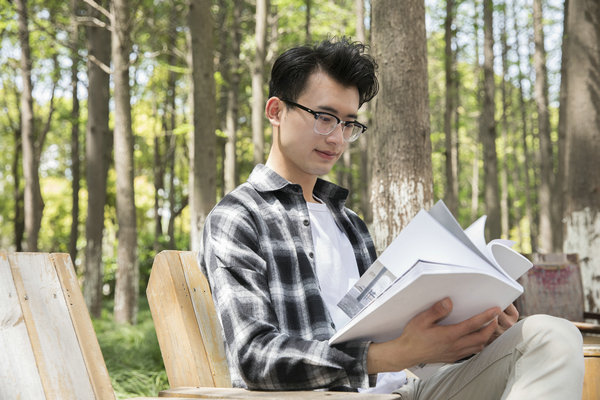
{"type": "MultiPolygon", "coordinates": [[[[364,0],[355,0],[356,10],[356,40],[362,43],[367,43],[367,34],[365,32],[365,2],[364,0]]],[[[371,109],[373,103],[367,103],[366,109],[359,111],[359,116],[363,120],[370,117],[367,110],[371,109]]],[[[369,141],[372,137],[372,131],[369,130],[365,135],[358,138],[358,157],[359,157],[359,172],[360,177],[360,212],[367,224],[373,221],[373,213],[371,210],[371,173],[369,169],[369,141]]]]}

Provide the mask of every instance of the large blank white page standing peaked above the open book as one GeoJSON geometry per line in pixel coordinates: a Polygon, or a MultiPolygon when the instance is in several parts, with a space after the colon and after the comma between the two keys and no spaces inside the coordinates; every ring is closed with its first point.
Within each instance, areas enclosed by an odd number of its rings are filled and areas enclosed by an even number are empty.
{"type": "Polygon", "coordinates": [[[418,260],[468,265],[482,270],[491,264],[421,210],[377,259],[394,275],[401,276],[418,260]]]}

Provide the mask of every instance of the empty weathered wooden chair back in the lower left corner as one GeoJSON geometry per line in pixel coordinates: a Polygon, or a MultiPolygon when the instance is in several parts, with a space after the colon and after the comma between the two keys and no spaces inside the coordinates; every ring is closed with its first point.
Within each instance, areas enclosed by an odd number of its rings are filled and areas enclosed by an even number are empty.
{"type": "Polygon", "coordinates": [[[68,254],[0,251],[0,399],[115,399],[68,254]]]}

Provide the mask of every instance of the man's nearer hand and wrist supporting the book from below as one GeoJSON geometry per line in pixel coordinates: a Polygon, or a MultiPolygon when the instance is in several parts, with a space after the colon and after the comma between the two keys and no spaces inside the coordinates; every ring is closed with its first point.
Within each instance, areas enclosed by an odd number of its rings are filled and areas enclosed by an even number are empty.
{"type": "MultiPolygon", "coordinates": [[[[369,373],[400,371],[421,363],[454,362],[480,352],[499,330],[494,307],[454,325],[438,325],[452,310],[446,298],[415,316],[398,338],[373,343],[367,355],[369,373]]],[[[510,321],[507,318],[507,323],[510,321]]]]}

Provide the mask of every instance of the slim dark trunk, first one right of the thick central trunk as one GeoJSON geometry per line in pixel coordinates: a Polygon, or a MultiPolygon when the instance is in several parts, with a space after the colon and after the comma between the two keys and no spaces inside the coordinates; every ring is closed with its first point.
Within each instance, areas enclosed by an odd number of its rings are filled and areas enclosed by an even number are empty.
{"type": "Polygon", "coordinates": [[[454,0],[446,0],[446,20],[444,21],[444,39],[445,39],[445,60],[446,71],[446,104],[444,109],[444,134],[446,143],[446,192],[444,200],[446,206],[456,215],[458,211],[458,125],[452,126],[452,119],[455,116],[457,104],[454,83],[456,79],[455,54],[452,50],[454,41],[454,23],[455,6],[454,0]]]}

